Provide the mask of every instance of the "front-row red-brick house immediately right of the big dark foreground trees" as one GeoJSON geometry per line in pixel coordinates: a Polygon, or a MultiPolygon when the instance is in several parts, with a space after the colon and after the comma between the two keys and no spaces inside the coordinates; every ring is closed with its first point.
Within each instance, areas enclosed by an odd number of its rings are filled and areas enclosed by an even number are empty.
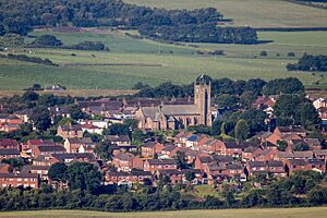
{"type": "Polygon", "coordinates": [[[143,184],[145,180],[154,182],[153,174],[148,171],[143,170],[132,170],[130,172],[124,171],[108,171],[105,175],[105,184],[128,184],[132,186],[133,184],[143,184]]]}

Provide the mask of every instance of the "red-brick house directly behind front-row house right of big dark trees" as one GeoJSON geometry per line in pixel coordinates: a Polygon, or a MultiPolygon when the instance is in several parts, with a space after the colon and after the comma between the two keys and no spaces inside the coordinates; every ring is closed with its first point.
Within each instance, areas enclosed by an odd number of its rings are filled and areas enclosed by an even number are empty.
{"type": "Polygon", "coordinates": [[[132,171],[133,169],[143,169],[143,160],[132,153],[120,153],[112,157],[111,164],[118,171],[132,171]]]}

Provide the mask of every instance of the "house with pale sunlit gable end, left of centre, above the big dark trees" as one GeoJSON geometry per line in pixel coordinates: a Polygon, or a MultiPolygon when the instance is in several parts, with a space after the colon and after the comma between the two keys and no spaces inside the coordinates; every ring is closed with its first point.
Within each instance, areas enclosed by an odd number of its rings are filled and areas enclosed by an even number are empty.
{"type": "Polygon", "coordinates": [[[92,153],[95,148],[95,143],[90,137],[70,137],[63,143],[66,153],[92,153]]]}

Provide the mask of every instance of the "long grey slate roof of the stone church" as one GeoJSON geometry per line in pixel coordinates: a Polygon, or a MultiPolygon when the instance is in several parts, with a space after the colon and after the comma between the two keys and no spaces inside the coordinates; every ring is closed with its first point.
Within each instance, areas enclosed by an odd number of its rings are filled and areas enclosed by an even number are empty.
{"type": "Polygon", "coordinates": [[[169,105],[159,107],[144,107],[142,111],[145,117],[152,118],[154,121],[157,120],[160,114],[160,110],[165,116],[194,116],[199,114],[199,110],[195,105],[169,105]]]}

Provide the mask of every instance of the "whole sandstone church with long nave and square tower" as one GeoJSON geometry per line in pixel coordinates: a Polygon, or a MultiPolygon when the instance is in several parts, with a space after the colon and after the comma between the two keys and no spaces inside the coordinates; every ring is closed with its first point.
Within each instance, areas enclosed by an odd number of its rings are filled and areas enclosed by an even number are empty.
{"type": "Polygon", "coordinates": [[[179,130],[192,125],[211,126],[211,78],[201,75],[194,83],[194,105],[160,105],[140,107],[136,118],[143,130],[179,130]]]}

